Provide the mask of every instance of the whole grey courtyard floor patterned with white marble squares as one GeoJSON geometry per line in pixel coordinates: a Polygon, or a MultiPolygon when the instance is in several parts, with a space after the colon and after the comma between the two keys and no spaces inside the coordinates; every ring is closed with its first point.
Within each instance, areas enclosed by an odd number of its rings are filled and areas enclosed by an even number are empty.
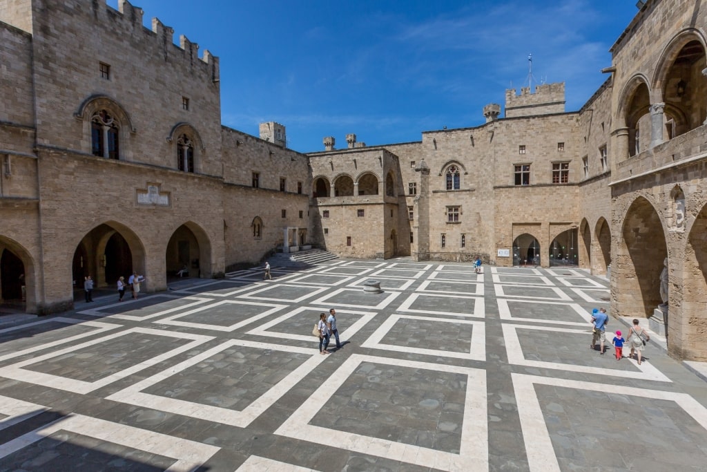
{"type": "Polygon", "coordinates": [[[653,340],[640,366],[589,349],[606,280],[404,259],[273,269],[2,328],[0,470],[707,468],[707,383],[653,340]],[[329,307],[344,347],[320,355],[329,307]]]}

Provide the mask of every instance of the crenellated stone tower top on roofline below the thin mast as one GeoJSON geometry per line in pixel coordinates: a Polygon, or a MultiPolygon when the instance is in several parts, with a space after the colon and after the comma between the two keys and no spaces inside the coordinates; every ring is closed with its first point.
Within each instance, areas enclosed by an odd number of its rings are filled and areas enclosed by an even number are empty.
{"type": "Polygon", "coordinates": [[[506,90],[506,117],[523,117],[564,113],[565,83],[542,84],[530,93],[530,87],[520,89],[517,95],[515,88],[506,90]]]}

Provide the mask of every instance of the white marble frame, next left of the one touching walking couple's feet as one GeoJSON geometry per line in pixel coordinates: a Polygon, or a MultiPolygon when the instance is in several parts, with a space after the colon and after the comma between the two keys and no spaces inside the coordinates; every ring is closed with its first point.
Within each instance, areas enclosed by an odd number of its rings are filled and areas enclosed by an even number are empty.
{"type": "Polygon", "coordinates": [[[41,355],[39,357],[34,357],[33,359],[28,359],[23,362],[11,364],[6,367],[0,367],[0,376],[6,377],[8,379],[14,379],[14,380],[18,380],[18,381],[28,382],[30,384],[43,385],[43,386],[47,386],[47,387],[51,387],[51,388],[59,388],[59,390],[72,391],[75,393],[88,393],[88,392],[96,390],[97,388],[111,384],[112,382],[115,382],[119,379],[123,379],[124,377],[135,374],[136,372],[140,372],[142,369],[146,369],[147,367],[158,364],[159,362],[162,362],[163,360],[170,359],[170,357],[174,357],[177,354],[191,350],[194,347],[197,347],[198,345],[206,343],[206,341],[209,341],[212,339],[214,339],[212,336],[203,336],[203,335],[196,335],[196,334],[189,334],[189,333],[175,333],[172,331],[153,330],[150,328],[130,328],[128,330],[124,330],[119,333],[114,333],[112,335],[103,336],[103,338],[97,338],[94,340],[90,340],[86,343],[81,343],[79,345],[66,347],[62,350],[58,350],[55,352],[49,352],[49,354],[41,355]],[[150,359],[140,362],[139,364],[135,364],[132,367],[128,367],[127,369],[123,369],[119,372],[115,372],[115,374],[105,376],[105,377],[103,377],[103,379],[99,379],[99,380],[93,381],[93,382],[76,380],[76,379],[69,379],[67,377],[62,377],[62,376],[57,376],[57,375],[52,375],[52,374],[45,374],[43,372],[34,372],[34,371],[31,371],[28,369],[23,369],[23,367],[26,367],[31,364],[36,364],[38,362],[42,362],[47,359],[54,359],[56,357],[66,354],[68,352],[75,352],[75,351],[83,349],[84,347],[89,347],[89,346],[93,346],[96,344],[105,343],[105,341],[107,341],[107,340],[119,338],[119,337],[126,336],[126,335],[129,335],[132,333],[143,333],[143,334],[163,336],[163,337],[168,337],[168,338],[190,339],[190,340],[192,340],[192,342],[182,345],[180,347],[175,347],[174,349],[168,350],[167,352],[163,352],[163,354],[157,355],[155,357],[151,357],[150,359]]]}

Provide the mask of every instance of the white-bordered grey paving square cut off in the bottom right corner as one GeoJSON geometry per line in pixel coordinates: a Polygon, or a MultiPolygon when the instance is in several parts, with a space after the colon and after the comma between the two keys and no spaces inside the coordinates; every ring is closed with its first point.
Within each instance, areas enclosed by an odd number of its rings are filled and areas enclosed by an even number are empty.
{"type": "Polygon", "coordinates": [[[707,408],[686,393],[511,376],[532,472],[705,467],[707,408]]]}

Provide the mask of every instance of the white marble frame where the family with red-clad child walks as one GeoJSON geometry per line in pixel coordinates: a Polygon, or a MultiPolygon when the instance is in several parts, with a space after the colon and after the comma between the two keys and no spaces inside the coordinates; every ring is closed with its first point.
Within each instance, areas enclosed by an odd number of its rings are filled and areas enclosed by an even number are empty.
{"type": "MultiPolygon", "coordinates": [[[[656,369],[653,364],[648,362],[643,362],[641,365],[628,357],[624,359],[626,362],[633,364],[636,369],[640,372],[633,370],[621,370],[621,369],[609,369],[607,367],[594,367],[594,366],[583,366],[575,364],[563,364],[560,362],[549,362],[549,361],[536,361],[525,359],[523,356],[522,348],[520,347],[520,339],[518,338],[517,329],[524,330],[537,330],[537,331],[554,331],[557,333],[570,333],[570,334],[581,334],[585,336],[587,340],[587,346],[590,345],[591,340],[591,330],[587,328],[585,330],[569,329],[569,328],[555,328],[549,326],[530,326],[530,325],[512,325],[504,324],[501,326],[503,328],[503,339],[506,340],[506,353],[508,354],[508,362],[510,364],[525,365],[527,367],[539,367],[543,369],[556,369],[556,370],[567,370],[572,372],[583,372],[585,374],[597,374],[597,375],[612,375],[619,376],[629,379],[643,379],[643,380],[655,380],[661,382],[672,382],[667,376],[662,374],[658,369],[656,369]]],[[[610,343],[609,343],[610,345],[610,343]]],[[[586,348],[585,348],[586,349],[586,348]]],[[[610,355],[604,357],[605,359],[610,359],[614,364],[616,361],[610,355]]]]}

